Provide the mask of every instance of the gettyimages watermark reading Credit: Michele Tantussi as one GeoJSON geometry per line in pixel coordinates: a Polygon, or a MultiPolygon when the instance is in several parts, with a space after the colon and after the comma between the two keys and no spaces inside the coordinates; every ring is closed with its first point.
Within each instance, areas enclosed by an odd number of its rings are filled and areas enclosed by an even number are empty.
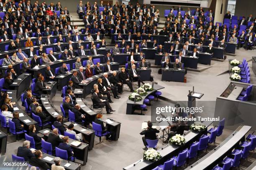
{"type": "Polygon", "coordinates": [[[186,101],[175,103],[164,102],[153,105],[151,108],[151,121],[159,125],[170,125],[175,122],[205,122],[219,121],[214,117],[215,101],[197,103],[196,107],[187,107],[186,101]],[[178,103],[178,104],[177,104],[178,103]]]}

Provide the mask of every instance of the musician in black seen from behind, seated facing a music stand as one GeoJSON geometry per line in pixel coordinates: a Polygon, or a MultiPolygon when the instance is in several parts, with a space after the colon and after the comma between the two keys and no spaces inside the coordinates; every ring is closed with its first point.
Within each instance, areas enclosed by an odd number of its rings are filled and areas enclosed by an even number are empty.
{"type": "Polygon", "coordinates": [[[140,133],[141,135],[145,135],[142,137],[143,144],[145,145],[145,148],[143,148],[144,150],[146,150],[146,145],[148,145],[146,139],[156,140],[156,133],[160,132],[159,130],[152,128],[152,126],[152,122],[148,121],[148,128],[140,133]]]}

